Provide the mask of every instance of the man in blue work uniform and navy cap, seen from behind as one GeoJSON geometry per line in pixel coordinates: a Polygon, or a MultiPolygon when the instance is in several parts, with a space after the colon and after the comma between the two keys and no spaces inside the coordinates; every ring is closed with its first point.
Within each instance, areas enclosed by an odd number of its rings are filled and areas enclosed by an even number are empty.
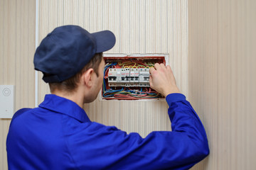
{"type": "Polygon", "coordinates": [[[82,109],[99,93],[102,52],[115,43],[108,30],[55,28],[34,56],[50,85],[38,108],[23,108],[11,121],[6,148],[9,169],[189,169],[208,153],[201,120],[180,94],[171,67],[150,69],[151,88],[166,96],[172,132],[137,133],[91,122],[82,109]]]}

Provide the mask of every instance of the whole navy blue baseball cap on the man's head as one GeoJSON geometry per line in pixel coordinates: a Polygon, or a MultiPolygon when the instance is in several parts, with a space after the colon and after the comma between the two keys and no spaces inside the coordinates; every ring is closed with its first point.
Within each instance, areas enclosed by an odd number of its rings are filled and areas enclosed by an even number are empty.
{"type": "Polygon", "coordinates": [[[114,34],[110,30],[89,33],[80,26],[60,26],[44,38],[34,55],[35,69],[50,76],[43,81],[61,82],[85,67],[96,53],[114,47],[114,34]]]}

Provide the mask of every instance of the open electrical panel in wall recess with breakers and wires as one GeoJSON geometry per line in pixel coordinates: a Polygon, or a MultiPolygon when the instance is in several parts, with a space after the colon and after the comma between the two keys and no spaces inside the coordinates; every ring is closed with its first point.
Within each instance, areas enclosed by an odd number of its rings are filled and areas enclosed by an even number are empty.
{"type": "Polygon", "coordinates": [[[103,99],[139,100],[164,98],[150,88],[149,69],[166,64],[166,55],[105,55],[103,99]]]}

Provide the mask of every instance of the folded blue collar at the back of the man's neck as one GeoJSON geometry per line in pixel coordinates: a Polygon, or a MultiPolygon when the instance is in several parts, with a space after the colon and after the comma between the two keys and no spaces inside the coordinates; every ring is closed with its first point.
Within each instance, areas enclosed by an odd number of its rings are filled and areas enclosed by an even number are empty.
{"type": "Polygon", "coordinates": [[[54,94],[46,94],[43,103],[39,107],[69,115],[81,122],[90,122],[85,111],[77,103],[54,94]]]}

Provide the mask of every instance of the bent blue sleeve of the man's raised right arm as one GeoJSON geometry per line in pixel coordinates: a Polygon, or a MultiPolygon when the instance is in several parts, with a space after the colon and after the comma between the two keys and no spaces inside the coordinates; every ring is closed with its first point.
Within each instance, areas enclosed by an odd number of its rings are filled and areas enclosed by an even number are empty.
{"type": "Polygon", "coordinates": [[[90,123],[70,143],[70,153],[81,169],[189,169],[209,154],[201,120],[183,94],[169,94],[172,132],[138,133],[90,123]]]}

